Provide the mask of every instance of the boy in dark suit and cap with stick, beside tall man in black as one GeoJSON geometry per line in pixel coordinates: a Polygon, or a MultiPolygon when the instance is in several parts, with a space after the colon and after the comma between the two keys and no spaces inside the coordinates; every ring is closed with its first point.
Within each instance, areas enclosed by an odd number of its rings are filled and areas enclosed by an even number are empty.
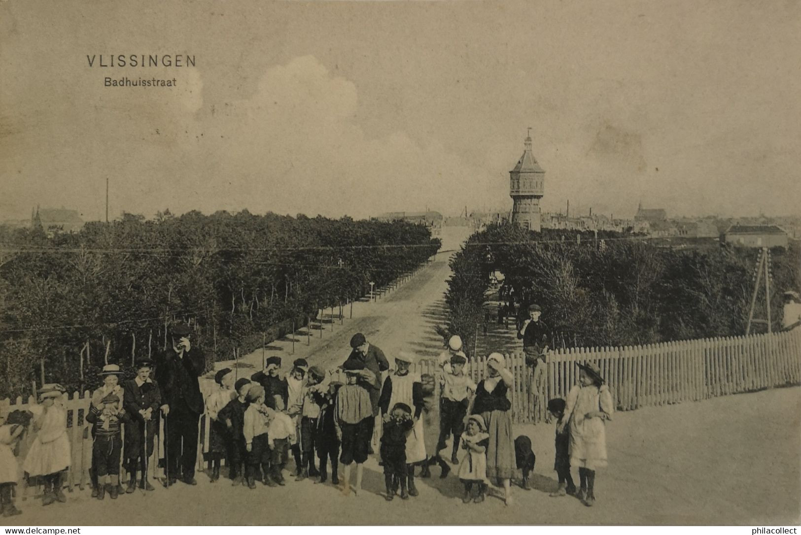
{"type": "Polygon", "coordinates": [[[147,459],[153,454],[153,438],[159,427],[161,392],[159,384],[150,378],[152,368],[151,360],[138,360],[136,376],[123,384],[123,407],[130,419],[125,424],[125,458],[131,476],[125,492],[129,494],[136,489],[137,470],[142,471],[139,488],[153,490],[147,481],[147,459]]]}

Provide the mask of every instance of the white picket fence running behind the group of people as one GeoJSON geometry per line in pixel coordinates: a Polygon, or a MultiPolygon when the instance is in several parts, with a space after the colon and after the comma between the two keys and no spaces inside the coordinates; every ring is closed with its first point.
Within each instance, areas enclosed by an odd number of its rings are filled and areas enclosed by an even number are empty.
{"type": "MultiPolygon", "coordinates": [[[[542,392],[532,392],[531,369],[525,365],[521,352],[505,355],[506,367],[512,372],[513,385],[509,388],[513,420],[516,423],[538,423],[547,420],[545,407],[550,398],[567,395],[578,382],[578,362],[594,362],[601,368],[609,384],[616,408],[632,410],[648,405],[681,403],[751,392],[763,388],[801,384],[801,328],[791,332],[736,336],[705,340],[683,340],[623,348],[578,348],[551,352],[545,360],[542,392]]],[[[435,377],[441,374],[433,360],[422,360],[415,366],[417,372],[435,377]]],[[[486,358],[480,357],[468,364],[466,372],[478,382],[486,374],[486,358]]],[[[249,375],[249,372],[248,372],[249,375]]],[[[203,396],[214,388],[213,382],[201,381],[203,396]]],[[[435,388],[435,396],[439,388],[435,388]]],[[[34,402],[0,400],[0,414],[14,409],[26,409],[34,402]]],[[[92,438],[90,424],[85,420],[91,402],[91,392],[73,392],[65,395],[67,433],[72,448],[72,465],[65,485],[70,489],[83,489],[89,480],[92,438]]],[[[438,404],[433,404],[434,407],[438,404]]],[[[200,420],[198,465],[203,470],[204,454],[209,449],[210,420],[203,414],[200,420]]],[[[124,432],[124,430],[123,430],[124,432]]],[[[159,422],[157,448],[148,461],[150,477],[164,477],[163,419],[159,422]],[[159,462],[162,461],[162,462],[159,462]]],[[[23,436],[18,456],[24,458],[33,432],[23,436]]],[[[124,452],[123,452],[124,458],[124,452]]],[[[22,473],[20,474],[22,481],[22,473]]],[[[124,478],[124,471],[121,471],[124,478]]],[[[37,482],[32,482],[34,485],[37,482]]],[[[23,499],[30,490],[22,487],[23,499]]]]}

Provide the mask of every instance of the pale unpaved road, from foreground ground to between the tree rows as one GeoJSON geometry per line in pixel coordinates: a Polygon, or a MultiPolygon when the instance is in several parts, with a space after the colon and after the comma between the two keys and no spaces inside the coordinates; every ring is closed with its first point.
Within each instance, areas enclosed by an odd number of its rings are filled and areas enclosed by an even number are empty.
{"type": "MultiPolygon", "coordinates": [[[[444,249],[466,237],[466,229],[446,228],[444,249]]],[[[364,332],[388,356],[412,348],[422,356],[441,351],[433,331],[444,321],[442,292],[449,276],[447,257],[422,270],[377,303],[357,303],[352,320],[319,332],[306,344],[271,344],[268,355],[284,356],[284,369],[304,356],[323,367],[341,364],[354,332],[364,332]]],[[[346,311],[347,314],[348,311],[346,311]]],[[[489,341],[489,340],[488,340],[489,341]]],[[[261,352],[243,359],[260,367],[261,352]]],[[[240,363],[241,364],[241,363],[240,363]]],[[[250,371],[248,370],[247,373],[250,371]]],[[[384,478],[371,457],[365,465],[364,490],[344,497],[330,482],[288,481],[284,488],[231,488],[211,484],[202,473],[199,485],[179,484],[152,493],[137,491],[116,501],[92,500],[75,490],[66,504],[43,508],[19,501],[16,525],[229,525],[229,524],[798,524],[801,510],[801,389],[783,388],[664,407],[641,408],[614,416],[607,428],[609,468],[598,472],[592,509],[571,497],[550,498],[553,473],[553,425],[516,426],[533,440],[537,468],[535,489],[514,490],[505,507],[491,497],[463,505],[461,484],[452,473],[440,480],[418,480],[420,496],[384,501],[384,478]]],[[[428,432],[428,430],[427,430],[428,432]]],[[[290,462],[290,467],[292,462],[290,462]]],[[[574,477],[578,474],[574,470],[574,477]]],[[[9,519],[2,518],[2,521],[9,519]]]]}

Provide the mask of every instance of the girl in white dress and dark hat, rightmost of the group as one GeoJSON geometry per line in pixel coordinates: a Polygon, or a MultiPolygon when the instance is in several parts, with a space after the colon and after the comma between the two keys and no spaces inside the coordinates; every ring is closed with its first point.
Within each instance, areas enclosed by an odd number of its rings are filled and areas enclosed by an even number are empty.
{"type": "Polygon", "coordinates": [[[597,364],[578,364],[578,384],[567,395],[565,416],[559,432],[569,426],[570,465],[578,466],[581,489],[578,498],[595,503],[595,470],[606,466],[606,420],[612,419],[614,403],[597,364]]]}

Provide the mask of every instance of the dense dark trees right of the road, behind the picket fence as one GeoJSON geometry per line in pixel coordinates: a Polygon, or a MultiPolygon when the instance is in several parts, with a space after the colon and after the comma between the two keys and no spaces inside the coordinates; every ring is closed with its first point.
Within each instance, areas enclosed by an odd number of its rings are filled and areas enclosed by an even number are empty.
{"type": "MultiPolygon", "coordinates": [[[[472,340],[497,271],[521,311],[540,304],[549,326],[573,332],[580,345],[739,336],[746,331],[759,254],[718,245],[656,247],[611,232],[535,233],[493,224],[472,235],[452,259],[449,328],[472,340]]],[[[798,243],[771,251],[770,265],[772,328],[779,330],[781,293],[801,287],[798,243]]],[[[757,314],[764,316],[763,289],[757,303],[757,314]]]]}

